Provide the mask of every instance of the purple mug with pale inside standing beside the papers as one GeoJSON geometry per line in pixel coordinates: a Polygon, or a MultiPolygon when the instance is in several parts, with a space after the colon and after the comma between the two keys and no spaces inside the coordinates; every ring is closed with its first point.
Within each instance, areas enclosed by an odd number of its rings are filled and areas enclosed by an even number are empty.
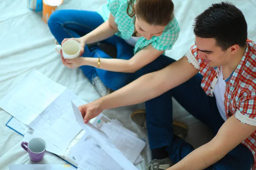
{"type": "Polygon", "coordinates": [[[41,138],[33,138],[27,142],[22,142],[21,147],[29,153],[30,160],[39,162],[46,153],[46,142],[41,138]]]}

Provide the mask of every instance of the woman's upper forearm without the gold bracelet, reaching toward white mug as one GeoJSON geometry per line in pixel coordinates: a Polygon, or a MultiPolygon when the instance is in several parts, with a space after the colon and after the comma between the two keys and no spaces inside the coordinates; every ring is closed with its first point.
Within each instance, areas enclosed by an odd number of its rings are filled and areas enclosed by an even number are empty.
{"type": "Polygon", "coordinates": [[[109,14],[108,21],[102,23],[96,29],[91,31],[90,33],[81,37],[84,40],[85,44],[90,44],[93,42],[99,42],[105,40],[118,31],[117,24],[115,23],[115,17],[112,14],[109,14]]]}

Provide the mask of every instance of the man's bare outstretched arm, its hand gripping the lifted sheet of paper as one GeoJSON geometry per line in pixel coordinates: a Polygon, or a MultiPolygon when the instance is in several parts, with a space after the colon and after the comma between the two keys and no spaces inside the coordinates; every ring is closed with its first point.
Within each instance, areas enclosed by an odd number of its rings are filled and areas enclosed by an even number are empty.
{"type": "Polygon", "coordinates": [[[145,102],[186,82],[197,73],[198,70],[183,57],[160,71],[143,75],[107,96],[81,105],[79,110],[87,123],[105,109],[145,102]]]}

